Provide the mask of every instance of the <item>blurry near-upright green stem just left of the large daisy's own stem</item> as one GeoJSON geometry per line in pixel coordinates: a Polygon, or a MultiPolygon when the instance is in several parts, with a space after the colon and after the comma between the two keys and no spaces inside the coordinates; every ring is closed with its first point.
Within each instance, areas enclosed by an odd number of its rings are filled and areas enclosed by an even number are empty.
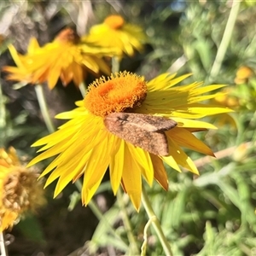
{"type": "Polygon", "coordinates": [[[138,255],[139,249],[137,247],[137,241],[132,234],[130,219],[128,218],[128,214],[127,214],[125,204],[123,201],[123,195],[121,194],[120,190],[118,190],[118,192],[117,192],[117,200],[119,202],[119,207],[120,207],[120,210],[122,213],[122,219],[123,219],[123,223],[125,225],[125,231],[127,232],[127,237],[130,242],[131,252],[129,254],[130,255],[138,255]]]}

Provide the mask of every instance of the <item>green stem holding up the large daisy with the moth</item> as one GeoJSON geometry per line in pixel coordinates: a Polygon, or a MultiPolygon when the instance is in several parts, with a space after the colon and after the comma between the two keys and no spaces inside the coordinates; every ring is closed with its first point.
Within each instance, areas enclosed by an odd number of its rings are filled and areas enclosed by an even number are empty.
{"type": "Polygon", "coordinates": [[[145,210],[148,214],[148,218],[152,219],[152,225],[154,227],[155,233],[160,240],[160,243],[166,253],[166,256],[172,256],[171,246],[170,246],[169,242],[167,241],[166,236],[164,235],[164,232],[161,228],[158,218],[154,214],[154,210],[151,207],[150,201],[148,200],[148,195],[147,195],[147,192],[146,192],[144,186],[143,186],[143,200],[142,201],[143,201],[143,207],[145,208],[145,210]]]}

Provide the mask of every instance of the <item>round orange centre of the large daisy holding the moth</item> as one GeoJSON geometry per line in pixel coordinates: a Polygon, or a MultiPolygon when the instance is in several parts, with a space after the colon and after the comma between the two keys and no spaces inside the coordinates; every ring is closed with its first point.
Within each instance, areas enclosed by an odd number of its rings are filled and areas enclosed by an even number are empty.
{"type": "Polygon", "coordinates": [[[84,107],[97,116],[113,112],[131,112],[141,106],[147,96],[147,84],[142,77],[128,72],[116,73],[106,80],[96,79],[84,98],[84,107]]]}

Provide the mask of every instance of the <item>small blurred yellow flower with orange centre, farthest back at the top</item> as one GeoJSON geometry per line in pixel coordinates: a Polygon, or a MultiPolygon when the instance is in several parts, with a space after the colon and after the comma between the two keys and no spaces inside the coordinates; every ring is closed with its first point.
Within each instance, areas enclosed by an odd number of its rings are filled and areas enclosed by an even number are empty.
{"type": "Polygon", "coordinates": [[[134,55],[135,49],[143,49],[146,36],[140,26],[126,23],[120,15],[108,16],[102,24],[92,26],[84,42],[116,49],[116,55],[134,55]]]}

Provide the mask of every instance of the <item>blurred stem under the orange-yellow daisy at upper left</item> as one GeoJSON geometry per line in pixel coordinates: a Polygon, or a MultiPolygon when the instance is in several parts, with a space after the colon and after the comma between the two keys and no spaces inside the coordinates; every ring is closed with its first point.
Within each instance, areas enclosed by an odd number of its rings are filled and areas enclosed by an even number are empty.
{"type": "Polygon", "coordinates": [[[36,94],[37,94],[37,97],[38,97],[39,107],[41,109],[41,113],[42,113],[43,118],[44,118],[44,123],[45,123],[49,133],[52,133],[52,132],[55,131],[55,126],[52,123],[52,120],[49,116],[49,111],[48,111],[47,104],[46,104],[46,101],[45,101],[44,90],[43,90],[42,84],[36,84],[35,85],[35,90],[36,90],[36,94]]]}

